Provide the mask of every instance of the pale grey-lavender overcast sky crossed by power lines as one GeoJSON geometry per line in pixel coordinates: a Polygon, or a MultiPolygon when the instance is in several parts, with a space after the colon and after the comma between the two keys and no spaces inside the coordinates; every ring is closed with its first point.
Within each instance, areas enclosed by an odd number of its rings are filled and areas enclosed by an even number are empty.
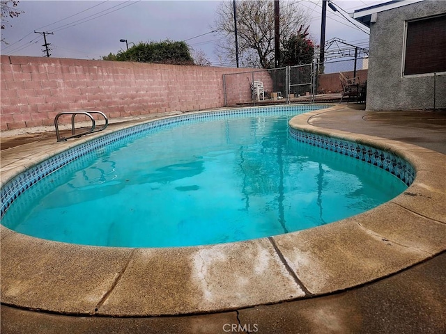
{"type": "MultiPolygon", "coordinates": [[[[321,0],[292,0],[308,10],[310,33],[318,45],[321,35],[321,0]]],[[[388,1],[388,0],[387,0],[388,1]]],[[[338,13],[327,10],[326,38],[341,38],[353,45],[367,47],[369,35],[349,23],[339,12],[386,1],[333,0],[338,13]]],[[[215,11],[220,1],[31,1],[21,0],[18,9],[24,13],[9,19],[1,37],[9,44],[1,45],[1,54],[43,56],[43,35],[47,35],[51,56],[59,58],[100,59],[110,52],[116,54],[131,42],[187,40],[194,49],[206,54],[212,65],[230,65],[219,61],[215,54],[217,35],[213,30],[215,11]],[[201,37],[194,38],[202,35],[201,37]],[[192,38],[192,39],[191,39],[192,38]]],[[[285,6],[286,1],[280,1],[285,6]]],[[[344,13],[345,16],[346,13],[344,13]]],[[[360,24],[358,24],[360,25],[360,24]]],[[[361,25],[360,25],[361,26],[361,25]]],[[[364,26],[364,31],[369,32],[364,26]]],[[[131,47],[132,44],[129,45],[131,47]]]]}

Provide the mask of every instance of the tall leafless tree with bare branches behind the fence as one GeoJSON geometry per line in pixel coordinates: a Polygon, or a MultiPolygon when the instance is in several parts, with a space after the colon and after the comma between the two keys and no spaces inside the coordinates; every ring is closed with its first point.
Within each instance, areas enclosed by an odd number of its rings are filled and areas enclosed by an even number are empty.
{"type": "MultiPolygon", "coordinates": [[[[274,2],[269,0],[236,1],[238,50],[245,67],[270,68],[274,61],[274,2]]],[[[217,8],[213,29],[220,33],[217,54],[226,63],[236,63],[233,1],[222,1],[217,8]]],[[[309,22],[308,10],[297,2],[282,1],[280,8],[281,45],[287,36],[297,33],[309,22]]]]}

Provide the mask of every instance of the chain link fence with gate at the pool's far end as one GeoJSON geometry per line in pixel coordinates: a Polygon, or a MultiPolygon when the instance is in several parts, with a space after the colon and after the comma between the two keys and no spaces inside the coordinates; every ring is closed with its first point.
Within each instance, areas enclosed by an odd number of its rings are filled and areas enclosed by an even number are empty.
{"type": "MultiPolygon", "coordinates": [[[[367,68],[368,58],[360,58],[224,74],[225,106],[339,102],[343,95],[339,72],[367,87],[367,68]],[[263,94],[257,89],[259,83],[263,94]]],[[[354,99],[343,98],[349,100],[354,99]]]]}

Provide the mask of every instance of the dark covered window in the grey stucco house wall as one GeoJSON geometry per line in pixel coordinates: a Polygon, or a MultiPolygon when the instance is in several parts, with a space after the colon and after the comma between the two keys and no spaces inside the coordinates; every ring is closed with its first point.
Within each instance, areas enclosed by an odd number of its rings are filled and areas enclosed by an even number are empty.
{"type": "Polygon", "coordinates": [[[446,15],[407,22],[403,75],[446,72],[446,15]]]}

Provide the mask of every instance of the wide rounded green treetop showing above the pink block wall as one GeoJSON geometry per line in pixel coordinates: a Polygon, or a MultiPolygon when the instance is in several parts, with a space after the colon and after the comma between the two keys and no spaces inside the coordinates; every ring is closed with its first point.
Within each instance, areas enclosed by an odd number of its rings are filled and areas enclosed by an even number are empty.
{"type": "Polygon", "coordinates": [[[103,56],[105,61],[134,61],[139,63],[162,63],[176,65],[194,65],[189,47],[185,42],[139,42],[126,51],[103,56]]]}

